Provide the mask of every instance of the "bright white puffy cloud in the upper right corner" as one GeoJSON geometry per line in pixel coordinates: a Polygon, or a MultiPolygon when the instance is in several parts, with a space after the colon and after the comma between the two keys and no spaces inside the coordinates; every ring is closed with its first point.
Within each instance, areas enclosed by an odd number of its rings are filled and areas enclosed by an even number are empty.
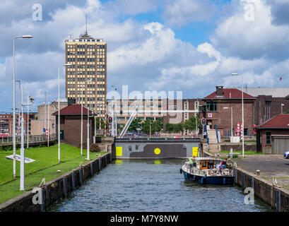
{"type": "Polygon", "coordinates": [[[271,6],[261,0],[240,2],[240,11],[226,18],[211,35],[213,45],[225,54],[243,59],[288,56],[289,27],[272,24],[271,6]],[[254,20],[246,20],[244,6],[253,4],[254,20]]]}

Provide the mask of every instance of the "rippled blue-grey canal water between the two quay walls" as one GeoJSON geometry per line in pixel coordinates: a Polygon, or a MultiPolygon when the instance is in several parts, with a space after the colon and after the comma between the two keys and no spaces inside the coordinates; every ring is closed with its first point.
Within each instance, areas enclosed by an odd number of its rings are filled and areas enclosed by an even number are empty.
{"type": "Polygon", "coordinates": [[[115,160],[50,211],[272,211],[237,186],[185,182],[182,160],[115,160]]]}

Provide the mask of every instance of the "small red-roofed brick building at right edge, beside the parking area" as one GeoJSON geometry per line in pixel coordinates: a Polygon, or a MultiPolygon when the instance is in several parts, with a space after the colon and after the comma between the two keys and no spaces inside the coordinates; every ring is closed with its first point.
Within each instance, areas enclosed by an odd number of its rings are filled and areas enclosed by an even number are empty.
{"type": "Polygon", "coordinates": [[[289,114],[279,114],[256,127],[257,152],[282,155],[289,150],[289,114]]]}

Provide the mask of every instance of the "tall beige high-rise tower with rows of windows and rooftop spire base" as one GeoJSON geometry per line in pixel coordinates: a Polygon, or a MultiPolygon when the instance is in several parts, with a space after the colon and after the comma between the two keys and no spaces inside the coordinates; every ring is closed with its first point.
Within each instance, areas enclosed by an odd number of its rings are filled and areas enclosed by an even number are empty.
{"type": "Polygon", "coordinates": [[[102,117],[107,93],[107,42],[87,32],[65,41],[66,98],[93,109],[102,117]]]}

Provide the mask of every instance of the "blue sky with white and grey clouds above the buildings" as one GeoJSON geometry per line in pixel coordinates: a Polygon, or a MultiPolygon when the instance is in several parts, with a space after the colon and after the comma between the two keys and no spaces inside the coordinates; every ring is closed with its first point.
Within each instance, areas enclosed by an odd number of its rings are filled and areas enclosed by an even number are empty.
{"type": "Polygon", "coordinates": [[[232,73],[247,87],[288,87],[288,0],[1,0],[0,113],[13,109],[13,37],[33,35],[16,39],[16,80],[36,111],[45,91],[57,100],[65,40],[85,31],[85,15],[88,34],[107,41],[107,91],[201,98],[240,87],[232,73]]]}

